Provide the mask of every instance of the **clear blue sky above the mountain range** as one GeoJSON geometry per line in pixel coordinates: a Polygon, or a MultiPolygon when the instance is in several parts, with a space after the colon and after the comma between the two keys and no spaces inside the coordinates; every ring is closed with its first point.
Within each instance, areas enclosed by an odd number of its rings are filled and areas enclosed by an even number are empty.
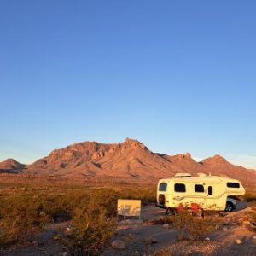
{"type": "Polygon", "coordinates": [[[256,1],[0,2],[0,160],[137,138],[256,169],[256,1]]]}

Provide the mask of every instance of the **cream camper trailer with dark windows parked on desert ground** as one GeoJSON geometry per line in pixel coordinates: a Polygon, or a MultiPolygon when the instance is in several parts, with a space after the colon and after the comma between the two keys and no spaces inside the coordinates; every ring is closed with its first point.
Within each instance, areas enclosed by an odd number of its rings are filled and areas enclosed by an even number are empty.
{"type": "Polygon", "coordinates": [[[188,207],[195,211],[224,211],[228,196],[244,195],[240,181],[229,177],[206,176],[199,173],[177,173],[175,177],[160,179],[157,205],[167,210],[188,207]]]}

